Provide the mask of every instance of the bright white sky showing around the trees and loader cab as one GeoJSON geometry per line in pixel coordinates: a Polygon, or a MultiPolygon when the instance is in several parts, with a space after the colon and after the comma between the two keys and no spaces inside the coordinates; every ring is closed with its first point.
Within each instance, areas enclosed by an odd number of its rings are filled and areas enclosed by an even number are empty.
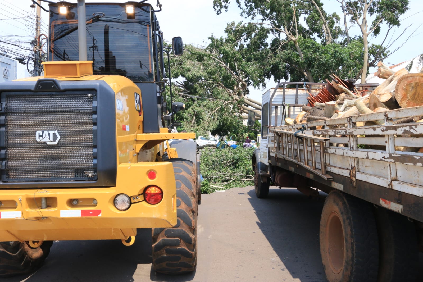
{"type": "MultiPolygon", "coordinates": [[[[124,3],[126,1],[86,0],[86,2],[124,3]]],[[[157,14],[157,18],[165,40],[170,41],[174,36],[181,36],[184,43],[205,46],[207,44],[207,38],[211,34],[214,34],[214,36],[224,36],[224,29],[229,22],[248,21],[239,15],[240,10],[236,6],[236,1],[232,0],[231,2],[228,12],[222,12],[222,14],[217,15],[213,9],[213,0],[160,0],[162,11],[157,14]]],[[[156,0],[149,0],[148,3],[151,3],[155,7],[156,0]]],[[[322,3],[324,3],[323,7],[327,12],[341,14],[341,8],[337,0],[322,0],[322,3]]],[[[7,21],[0,21],[0,38],[1,36],[10,37],[11,35],[15,35],[13,38],[19,36],[19,38],[25,39],[35,34],[25,19],[19,19],[19,16],[22,17],[22,14],[35,14],[35,8],[30,8],[30,4],[31,0],[0,0],[0,19],[11,18],[7,21]]],[[[48,8],[47,3],[43,3],[43,6],[48,8]]],[[[408,25],[412,24],[412,26],[409,27],[390,49],[395,49],[403,44],[412,31],[415,30],[415,33],[411,35],[409,40],[396,53],[387,58],[384,63],[388,65],[401,63],[423,53],[423,49],[421,48],[423,25],[420,26],[423,24],[422,11],[423,1],[409,0],[409,11],[402,16],[401,26],[393,31],[393,38],[396,38],[408,25]]],[[[48,30],[47,16],[48,14],[42,11],[42,30],[46,33],[48,30]]],[[[384,30],[382,27],[382,33],[384,30]]],[[[352,27],[350,34],[351,32],[353,34],[360,33],[357,26],[352,27]]],[[[380,39],[369,38],[370,43],[378,43],[378,40],[380,39]]],[[[24,69],[25,66],[18,64],[18,77],[25,77],[24,69]]],[[[271,81],[266,85],[266,89],[272,88],[275,85],[276,82],[271,81]]],[[[250,97],[260,101],[261,94],[264,91],[263,89],[251,88],[250,97]]]]}

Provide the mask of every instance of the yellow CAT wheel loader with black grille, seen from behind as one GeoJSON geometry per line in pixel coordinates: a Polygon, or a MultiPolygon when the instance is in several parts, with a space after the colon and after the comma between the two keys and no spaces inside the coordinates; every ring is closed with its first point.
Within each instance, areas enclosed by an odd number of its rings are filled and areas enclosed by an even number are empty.
{"type": "Polygon", "coordinates": [[[36,270],[55,240],[130,246],[137,228],[152,228],[156,271],[194,271],[195,134],[170,131],[184,104],[164,99],[181,38],[163,46],[158,0],[43,1],[44,76],[0,84],[0,276],[36,270]]]}

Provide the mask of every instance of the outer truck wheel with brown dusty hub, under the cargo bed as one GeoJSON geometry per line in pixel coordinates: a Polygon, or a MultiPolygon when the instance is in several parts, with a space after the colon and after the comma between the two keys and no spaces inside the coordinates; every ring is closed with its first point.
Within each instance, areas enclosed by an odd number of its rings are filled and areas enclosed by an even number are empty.
{"type": "Polygon", "coordinates": [[[320,219],[320,254],[329,282],[376,281],[379,242],[371,205],[330,192],[320,219]]]}

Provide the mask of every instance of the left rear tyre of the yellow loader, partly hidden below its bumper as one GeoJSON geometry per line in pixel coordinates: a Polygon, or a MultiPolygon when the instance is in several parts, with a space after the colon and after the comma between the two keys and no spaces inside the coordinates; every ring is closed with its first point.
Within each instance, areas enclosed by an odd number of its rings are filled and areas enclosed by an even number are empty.
{"type": "Polygon", "coordinates": [[[34,249],[26,242],[0,242],[0,277],[36,271],[49,255],[52,244],[53,241],[44,241],[34,249]]]}

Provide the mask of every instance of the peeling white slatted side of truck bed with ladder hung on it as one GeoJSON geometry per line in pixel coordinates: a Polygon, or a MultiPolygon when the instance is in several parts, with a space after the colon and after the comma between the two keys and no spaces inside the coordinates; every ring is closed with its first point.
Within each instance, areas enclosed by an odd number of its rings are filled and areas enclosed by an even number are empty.
{"type": "Polygon", "coordinates": [[[423,106],[269,126],[269,164],[423,222],[423,123],[395,122],[421,116],[423,106]]]}

